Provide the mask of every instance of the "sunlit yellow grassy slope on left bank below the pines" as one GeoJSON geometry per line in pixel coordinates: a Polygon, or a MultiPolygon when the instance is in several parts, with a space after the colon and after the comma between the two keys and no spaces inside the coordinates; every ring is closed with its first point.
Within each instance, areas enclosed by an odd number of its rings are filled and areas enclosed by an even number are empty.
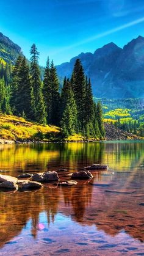
{"type": "Polygon", "coordinates": [[[52,141],[57,139],[60,128],[27,122],[22,117],[0,114],[0,139],[16,141],[52,141]]]}

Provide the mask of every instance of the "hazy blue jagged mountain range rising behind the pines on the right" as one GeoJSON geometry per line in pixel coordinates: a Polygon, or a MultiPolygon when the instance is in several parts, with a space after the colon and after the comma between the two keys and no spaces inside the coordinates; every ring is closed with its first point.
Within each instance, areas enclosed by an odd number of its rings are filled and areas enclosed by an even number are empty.
{"type": "Polygon", "coordinates": [[[144,97],[144,37],[133,39],[123,49],[109,43],[93,54],[79,54],[70,62],[57,66],[60,79],[71,76],[76,59],[81,59],[96,97],[144,97]]]}

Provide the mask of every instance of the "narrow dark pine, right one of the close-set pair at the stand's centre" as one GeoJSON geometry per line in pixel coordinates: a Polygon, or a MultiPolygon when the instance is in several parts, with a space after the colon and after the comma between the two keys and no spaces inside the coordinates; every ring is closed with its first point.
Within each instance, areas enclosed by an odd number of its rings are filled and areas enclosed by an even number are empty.
{"type": "Polygon", "coordinates": [[[60,122],[60,93],[59,93],[59,79],[57,77],[57,70],[54,67],[52,60],[50,66],[50,81],[51,81],[51,109],[48,113],[49,123],[52,125],[59,125],[60,122]]]}

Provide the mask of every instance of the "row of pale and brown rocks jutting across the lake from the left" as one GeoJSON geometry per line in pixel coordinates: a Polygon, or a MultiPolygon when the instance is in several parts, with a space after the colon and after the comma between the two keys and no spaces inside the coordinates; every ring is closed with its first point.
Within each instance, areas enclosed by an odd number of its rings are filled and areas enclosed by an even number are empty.
{"type": "Polygon", "coordinates": [[[63,180],[63,172],[67,170],[58,170],[53,172],[40,172],[36,174],[23,173],[18,175],[18,177],[12,177],[9,175],[0,174],[0,191],[26,191],[31,189],[43,188],[44,183],[56,182],[59,186],[74,186],[77,185],[77,180],[92,180],[92,171],[101,172],[107,171],[108,166],[103,166],[101,164],[93,164],[92,166],[84,167],[84,169],[78,172],[72,172],[70,174],[65,174],[65,180],[63,180]],[[59,174],[58,174],[59,173],[59,174]],[[26,179],[27,178],[27,179],[26,179]]]}

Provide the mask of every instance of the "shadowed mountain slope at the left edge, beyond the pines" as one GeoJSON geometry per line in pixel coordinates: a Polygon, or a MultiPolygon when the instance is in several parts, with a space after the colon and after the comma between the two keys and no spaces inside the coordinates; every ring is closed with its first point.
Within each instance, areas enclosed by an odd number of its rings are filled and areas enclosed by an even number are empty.
{"type": "Polygon", "coordinates": [[[0,60],[9,64],[15,64],[19,55],[23,55],[20,46],[13,43],[9,37],[0,32],[0,60]]]}

